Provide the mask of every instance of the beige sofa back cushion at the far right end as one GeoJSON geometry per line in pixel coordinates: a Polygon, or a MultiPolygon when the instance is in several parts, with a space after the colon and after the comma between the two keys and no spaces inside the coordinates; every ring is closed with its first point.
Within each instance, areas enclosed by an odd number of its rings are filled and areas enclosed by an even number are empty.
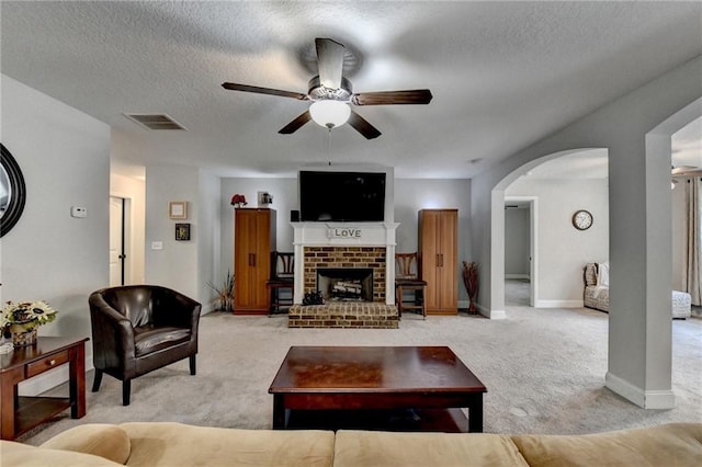
{"type": "Polygon", "coordinates": [[[671,423],[587,435],[516,435],[531,466],[700,466],[702,423],[671,423]]]}

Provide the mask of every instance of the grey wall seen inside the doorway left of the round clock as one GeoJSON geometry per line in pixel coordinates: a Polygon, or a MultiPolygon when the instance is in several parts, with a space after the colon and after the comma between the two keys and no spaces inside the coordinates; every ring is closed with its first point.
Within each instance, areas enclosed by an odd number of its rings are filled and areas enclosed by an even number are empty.
{"type": "Polygon", "coordinates": [[[530,236],[529,207],[505,209],[506,278],[530,277],[530,236]]]}

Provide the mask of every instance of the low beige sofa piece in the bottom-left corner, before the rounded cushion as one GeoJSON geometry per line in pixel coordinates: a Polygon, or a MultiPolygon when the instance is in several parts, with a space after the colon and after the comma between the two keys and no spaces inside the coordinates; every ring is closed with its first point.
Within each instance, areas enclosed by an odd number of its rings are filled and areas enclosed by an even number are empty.
{"type": "Polygon", "coordinates": [[[121,464],[92,454],[0,441],[0,465],[2,467],[115,467],[121,464]]]}

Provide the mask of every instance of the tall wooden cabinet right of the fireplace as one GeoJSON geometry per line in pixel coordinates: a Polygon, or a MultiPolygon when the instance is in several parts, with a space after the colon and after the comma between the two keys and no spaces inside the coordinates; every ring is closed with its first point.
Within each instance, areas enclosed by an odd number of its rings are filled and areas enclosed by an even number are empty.
{"type": "Polygon", "coordinates": [[[458,209],[421,209],[418,237],[427,315],[458,314],[458,209]]]}

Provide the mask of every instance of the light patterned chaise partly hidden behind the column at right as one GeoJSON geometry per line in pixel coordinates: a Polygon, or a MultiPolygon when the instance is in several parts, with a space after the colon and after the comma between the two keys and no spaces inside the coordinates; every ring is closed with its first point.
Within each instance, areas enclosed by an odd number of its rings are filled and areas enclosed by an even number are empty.
{"type": "MultiPolygon", "coordinates": [[[[610,312],[609,263],[587,263],[582,270],[585,291],[582,305],[610,312]]],[[[672,291],[671,312],[673,319],[690,318],[692,297],[687,292],[672,291]]]]}

